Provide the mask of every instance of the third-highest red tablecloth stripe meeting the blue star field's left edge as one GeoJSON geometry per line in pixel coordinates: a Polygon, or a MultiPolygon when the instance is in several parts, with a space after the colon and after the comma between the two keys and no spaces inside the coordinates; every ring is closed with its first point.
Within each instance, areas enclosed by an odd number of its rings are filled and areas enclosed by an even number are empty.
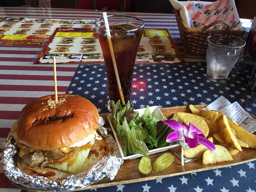
{"type": "MultiPolygon", "coordinates": [[[[68,86],[58,86],[59,92],[66,92],[68,86]]],[[[1,85],[1,90],[15,91],[55,91],[54,86],[38,86],[38,85],[1,85]]]]}

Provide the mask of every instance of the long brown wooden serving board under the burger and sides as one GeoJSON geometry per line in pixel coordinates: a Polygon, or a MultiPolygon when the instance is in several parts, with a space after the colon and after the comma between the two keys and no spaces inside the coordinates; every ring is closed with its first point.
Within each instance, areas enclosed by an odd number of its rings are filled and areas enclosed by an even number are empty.
{"type": "MultiPolygon", "coordinates": [[[[205,106],[206,105],[195,105],[195,107],[198,109],[203,109],[205,106]]],[[[167,119],[170,119],[172,115],[178,111],[190,112],[188,106],[162,108],[160,110],[162,111],[163,115],[167,117],[167,119]]],[[[107,118],[109,113],[100,114],[100,115],[106,120],[105,127],[107,127],[111,131],[111,127],[109,125],[108,118],[107,118]]],[[[149,157],[151,158],[151,161],[154,162],[157,159],[157,157],[159,157],[161,154],[166,152],[173,153],[172,150],[168,150],[168,151],[164,151],[156,154],[151,154],[149,157]]],[[[120,166],[120,169],[113,180],[109,180],[109,178],[105,178],[97,183],[94,183],[93,185],[90,185],[81,189],[76,189],[75,191],[113,186],[113,185],[121,185],[125,183],[134,183],[134,182],[140,182],[145,180],[154,180],[157,178],[173,177],[176,175],[184,175],[184,174],[189,174],[193,172],[207,171],[211,169],[220,169],[227,166],[235,166],[242,163],[247,163],[253,160],[256,160],[256,149],[250,149],[250,148],[243,148],[243,151],[233,156],[233,161],[226,161],[226,162],[215,163],[210,165],[203,165],[202,159],[198,159],[198,160],[191,161],[189,163],[185,163],[184,166],[181,166],[180,159],[178,157],[175,157],[174,162],[167,169],[161,172],[152,171],[148,175],[142,175],[138,170],[140,158],[136,158],[132,160],[125,160],[124,163],[120,166]]],[[[31,189],[27,189],[15,183],[13,184],[20,189],[33,191],[31,189]]]]}

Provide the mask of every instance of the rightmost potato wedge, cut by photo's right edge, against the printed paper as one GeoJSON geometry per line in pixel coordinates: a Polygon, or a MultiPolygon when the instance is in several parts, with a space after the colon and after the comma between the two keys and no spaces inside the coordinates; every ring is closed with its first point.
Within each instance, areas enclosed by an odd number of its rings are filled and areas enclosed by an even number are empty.
{"type": "Polygon", "coordinates": [[[256,135],[251,134],[247,131],[245,131],[241,126],[237,125],[233,121],[229,121],[230,127],[232,127],[236,131],[236,137],[243,141],[244,143],[247,143],[249,148],[256,148],[256,135]]]}

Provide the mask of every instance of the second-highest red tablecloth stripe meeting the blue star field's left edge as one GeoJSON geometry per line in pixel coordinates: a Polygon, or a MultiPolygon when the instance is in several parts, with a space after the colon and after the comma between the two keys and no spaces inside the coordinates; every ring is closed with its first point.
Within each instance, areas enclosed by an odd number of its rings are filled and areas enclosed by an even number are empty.
{"type": "MultiPolygon", "coordinates": [[[[34,75],[1,75],[0,79],[20,79],[20,80],[53,80],[52,76],[34,76],[34,75]]],[[[72,81],[73,76],[57,76],[57,81],[72,81]]]]}

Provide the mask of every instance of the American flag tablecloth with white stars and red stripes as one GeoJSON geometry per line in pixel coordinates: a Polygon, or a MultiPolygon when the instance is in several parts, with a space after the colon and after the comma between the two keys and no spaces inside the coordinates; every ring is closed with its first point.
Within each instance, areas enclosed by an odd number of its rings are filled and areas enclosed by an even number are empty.
{"type": "MultiPolygon", "coordinates": [[[[128,14],[143,18],[146,28],[169,29],[183,54],[174,15],[128,14]]],[[[0,17],[96,19],[100,16],[101,12],[72,9],[0,8],[0,17]]],[[[3,147],[3,138],[9,134],[10,127],[17,120],[21,109],[36,97],[54,94],[53,67],[33,64],[40,51],[38,48],[0,47],[0,148],[3,147]]],[[[238,68],[227,82],[216,83],[209,82],[205,69],[205,63],[144,67],[137,65],[132,93],[134,108],[145,105],[170,107],[190,103],[207,104],[224,95],[230,102],[238,101],[245,110],[256,114],[255,93],[248,90],[243,79],[239,79],[238,68]]],[[[57,66],[57,76],[58,93],[79,94],[90,99],[100,113],[107,112],[105,102],[108,88],[104,65],[60,64],[57,66]]],[[[255,163],[89,191],[256,191],[256,180],[252,176],[255,175],[255,163]],[[220,180],[225,183],[219,183],[220,180]]],[[[0,170],[0,192],[3,191],[18,192],[20,189],[15,189],[0,170]]]]}

